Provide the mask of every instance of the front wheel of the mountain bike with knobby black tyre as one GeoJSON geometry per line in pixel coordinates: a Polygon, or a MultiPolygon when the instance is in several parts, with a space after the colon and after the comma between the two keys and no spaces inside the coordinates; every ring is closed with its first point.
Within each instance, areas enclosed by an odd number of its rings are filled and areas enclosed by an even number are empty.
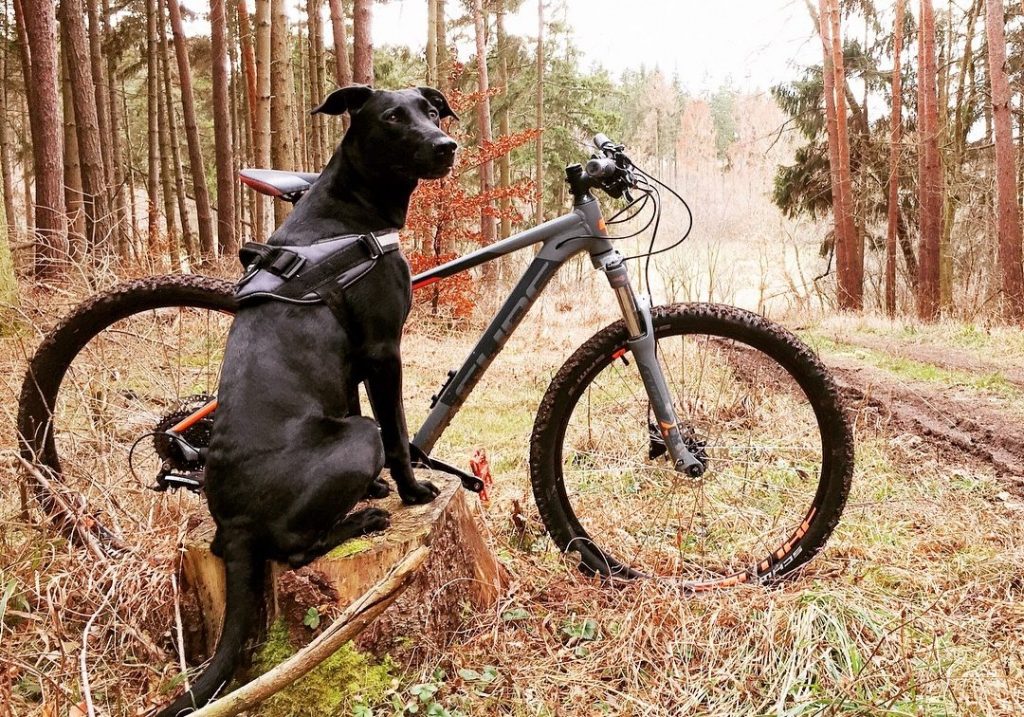
{"type": "Polygon", "coordinates": [[[707,471],[673,469],[616,322],[562,366],[538,411],[530,481],[551,537],[589,574],[694,590],[804,564],[839,521],[853,473],[827,370],[738,308],[672,304],[651,318],[680,428],[707,471]]]}

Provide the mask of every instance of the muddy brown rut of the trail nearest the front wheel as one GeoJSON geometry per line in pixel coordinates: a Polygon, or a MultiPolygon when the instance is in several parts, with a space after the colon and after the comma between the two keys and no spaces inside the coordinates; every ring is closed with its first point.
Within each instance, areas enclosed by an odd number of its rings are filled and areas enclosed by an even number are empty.
{"type": "Polygon", "coordinates": [[[1019,417],[969,391],[908,381],[845,356],[823,357],[852,400],[876,409],[896,429],[923,436],[953,465],[991,464],[1010,490],[1024,496],[1024,425],[1019,417]]]}

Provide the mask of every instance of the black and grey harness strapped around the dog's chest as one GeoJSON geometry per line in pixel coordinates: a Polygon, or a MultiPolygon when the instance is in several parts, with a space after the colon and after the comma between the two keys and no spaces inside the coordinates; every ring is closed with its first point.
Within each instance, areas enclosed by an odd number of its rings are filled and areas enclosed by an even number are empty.
{"type": "Polygon", "coordinates": [[[343,235],[305,246],[247,242],[239,250],[246,272],[234,287],[241,306],[257,301],[326,303],[341,315],[341,294],[382,256],[398,250],[398,230],[343,235]]]}

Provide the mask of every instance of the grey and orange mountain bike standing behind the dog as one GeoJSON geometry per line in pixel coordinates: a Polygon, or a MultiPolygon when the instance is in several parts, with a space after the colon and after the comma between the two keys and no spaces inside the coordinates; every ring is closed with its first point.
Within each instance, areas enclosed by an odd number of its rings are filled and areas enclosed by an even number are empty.
{"type": "MultiPolygon", "coordinates": [[[[529,480],[551,539],[591,575],[691,590],[773,581],[821,549],[846,502],[854,449],[839,391],[810,348],[763,317],[711,303],[652,306],[634,289],[627,262],[649,262],[653,238],[647,252],[624,256],[608,226],[652,207],[656,236],[658,189],[672,191],[623,145],[604,135],[595,144],[586,166],[565,170],[571,211],[413,278],[419,291],[539,245],[441,381],[414,455],[480,488],[431,452],[558,269],[586,254],[622,315],[565,361],[537,411],[529,480]],[[596,192],[626,205],[606,221],[596,192]]],[[[295,202],[315,175],[253,170],[243,180],[295,202]]],[[[201,276],[122,284],[76,308],[32,358],[23,455],[53,484],[73,486],[104,535],[129,543],[159,532],[168,511],[198,514],[181,496],[202,489],[232,289],[201,276]]]]}

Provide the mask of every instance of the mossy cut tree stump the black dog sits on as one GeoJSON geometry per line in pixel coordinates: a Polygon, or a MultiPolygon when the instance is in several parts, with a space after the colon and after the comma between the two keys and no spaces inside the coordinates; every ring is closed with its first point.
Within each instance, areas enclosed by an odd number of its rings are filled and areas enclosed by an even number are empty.
{"type": "MultiPolygon", "coordinates": [[[[360,648],[415,659],[421,646],[442,644],[467,608],[494,605],[508,575],[487,546],[477,498],[458,478],[433,474],[431,480],[441,492],[428,505],[402,505],[394,491],[373,501],[391,513],[387,531],[343,543],[296,571],[273,563],[267,624],[282,620],[293,643],[308,642],[421,546],[429,556],[406,592],[359,636],[360,648]]],[[[211,538],[186,547],[182,559],[186,656],[196,662],[212,655],[224,613],[223,563],[210,552],[211,538]]]]}

